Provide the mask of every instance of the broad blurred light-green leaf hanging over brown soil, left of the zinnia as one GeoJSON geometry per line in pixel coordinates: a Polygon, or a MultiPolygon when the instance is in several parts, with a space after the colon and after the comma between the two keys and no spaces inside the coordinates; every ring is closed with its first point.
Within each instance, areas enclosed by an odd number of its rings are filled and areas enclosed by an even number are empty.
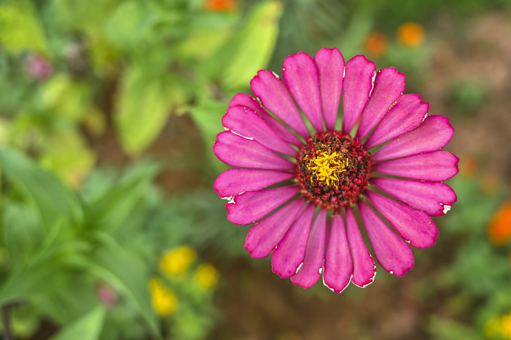
{"type": "Polygon", "coordinates": [[[124,149],[138,154],[149,146],[165,126],[171,105],[182,100],[179,87],[158,76],[146,76],[141,66],[129,67],[121,80],[115,126],[124,149]]]}

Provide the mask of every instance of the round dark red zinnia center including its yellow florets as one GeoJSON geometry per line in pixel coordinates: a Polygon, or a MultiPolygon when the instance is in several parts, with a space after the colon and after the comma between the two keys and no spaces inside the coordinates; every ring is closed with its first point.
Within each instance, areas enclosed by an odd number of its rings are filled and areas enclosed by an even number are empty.
{"type": "Polygon", "coordinates": [[[369,183],[367,151],[357,139],[339,131],[310,137],[298,150],[296,161],[302,194],[328,209],[355,203],[369,183]]]}

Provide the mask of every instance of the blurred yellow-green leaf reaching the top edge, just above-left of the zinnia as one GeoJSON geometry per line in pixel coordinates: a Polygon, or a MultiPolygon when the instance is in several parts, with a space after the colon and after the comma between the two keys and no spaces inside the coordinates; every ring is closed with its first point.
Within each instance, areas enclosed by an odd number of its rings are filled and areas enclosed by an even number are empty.
{"type": "Polygon", "coordinates": [[[281,14],[280,2],[264,1],[254,5],[243,27],[200,66],[200,71],[227,88],[248,86],[257,71],[270,61],[281,14]]]}

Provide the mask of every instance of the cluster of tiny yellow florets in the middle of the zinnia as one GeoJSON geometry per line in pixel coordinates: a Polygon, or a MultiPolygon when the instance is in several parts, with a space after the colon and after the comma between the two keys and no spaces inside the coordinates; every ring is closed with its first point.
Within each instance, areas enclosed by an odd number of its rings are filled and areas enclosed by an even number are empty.
{"type": "MultiPolygon", "coordinates": [[[[309,156],[306,155],[304,160],[308,159],[309,156]]],[[[342,155],[336,151],[332,152],[332,154],[318,151],[317,156],[309,160],[307,169],[312,172],[311,183],[314,180],[313,177],[315,177],[318,181],[326,182],[327,186],[330,186],[332,182],[332,185],[338,189],[337,182],[339,182],[339,174],[346,171],[347,166],[348,160],[343,159],[342,155]]]]}

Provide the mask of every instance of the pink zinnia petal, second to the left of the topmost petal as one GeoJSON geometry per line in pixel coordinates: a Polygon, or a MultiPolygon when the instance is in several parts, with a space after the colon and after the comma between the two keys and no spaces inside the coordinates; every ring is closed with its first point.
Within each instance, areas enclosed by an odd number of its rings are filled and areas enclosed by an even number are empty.
{"type": "Polygon", "coordinates": [[[259,71],[250,82],[250,87],[261,103],[275,116],[282,119],[301,137],[307,139],[310,136],[309,129],[301,119],[286,85],[275,73],[259,71]]]}

